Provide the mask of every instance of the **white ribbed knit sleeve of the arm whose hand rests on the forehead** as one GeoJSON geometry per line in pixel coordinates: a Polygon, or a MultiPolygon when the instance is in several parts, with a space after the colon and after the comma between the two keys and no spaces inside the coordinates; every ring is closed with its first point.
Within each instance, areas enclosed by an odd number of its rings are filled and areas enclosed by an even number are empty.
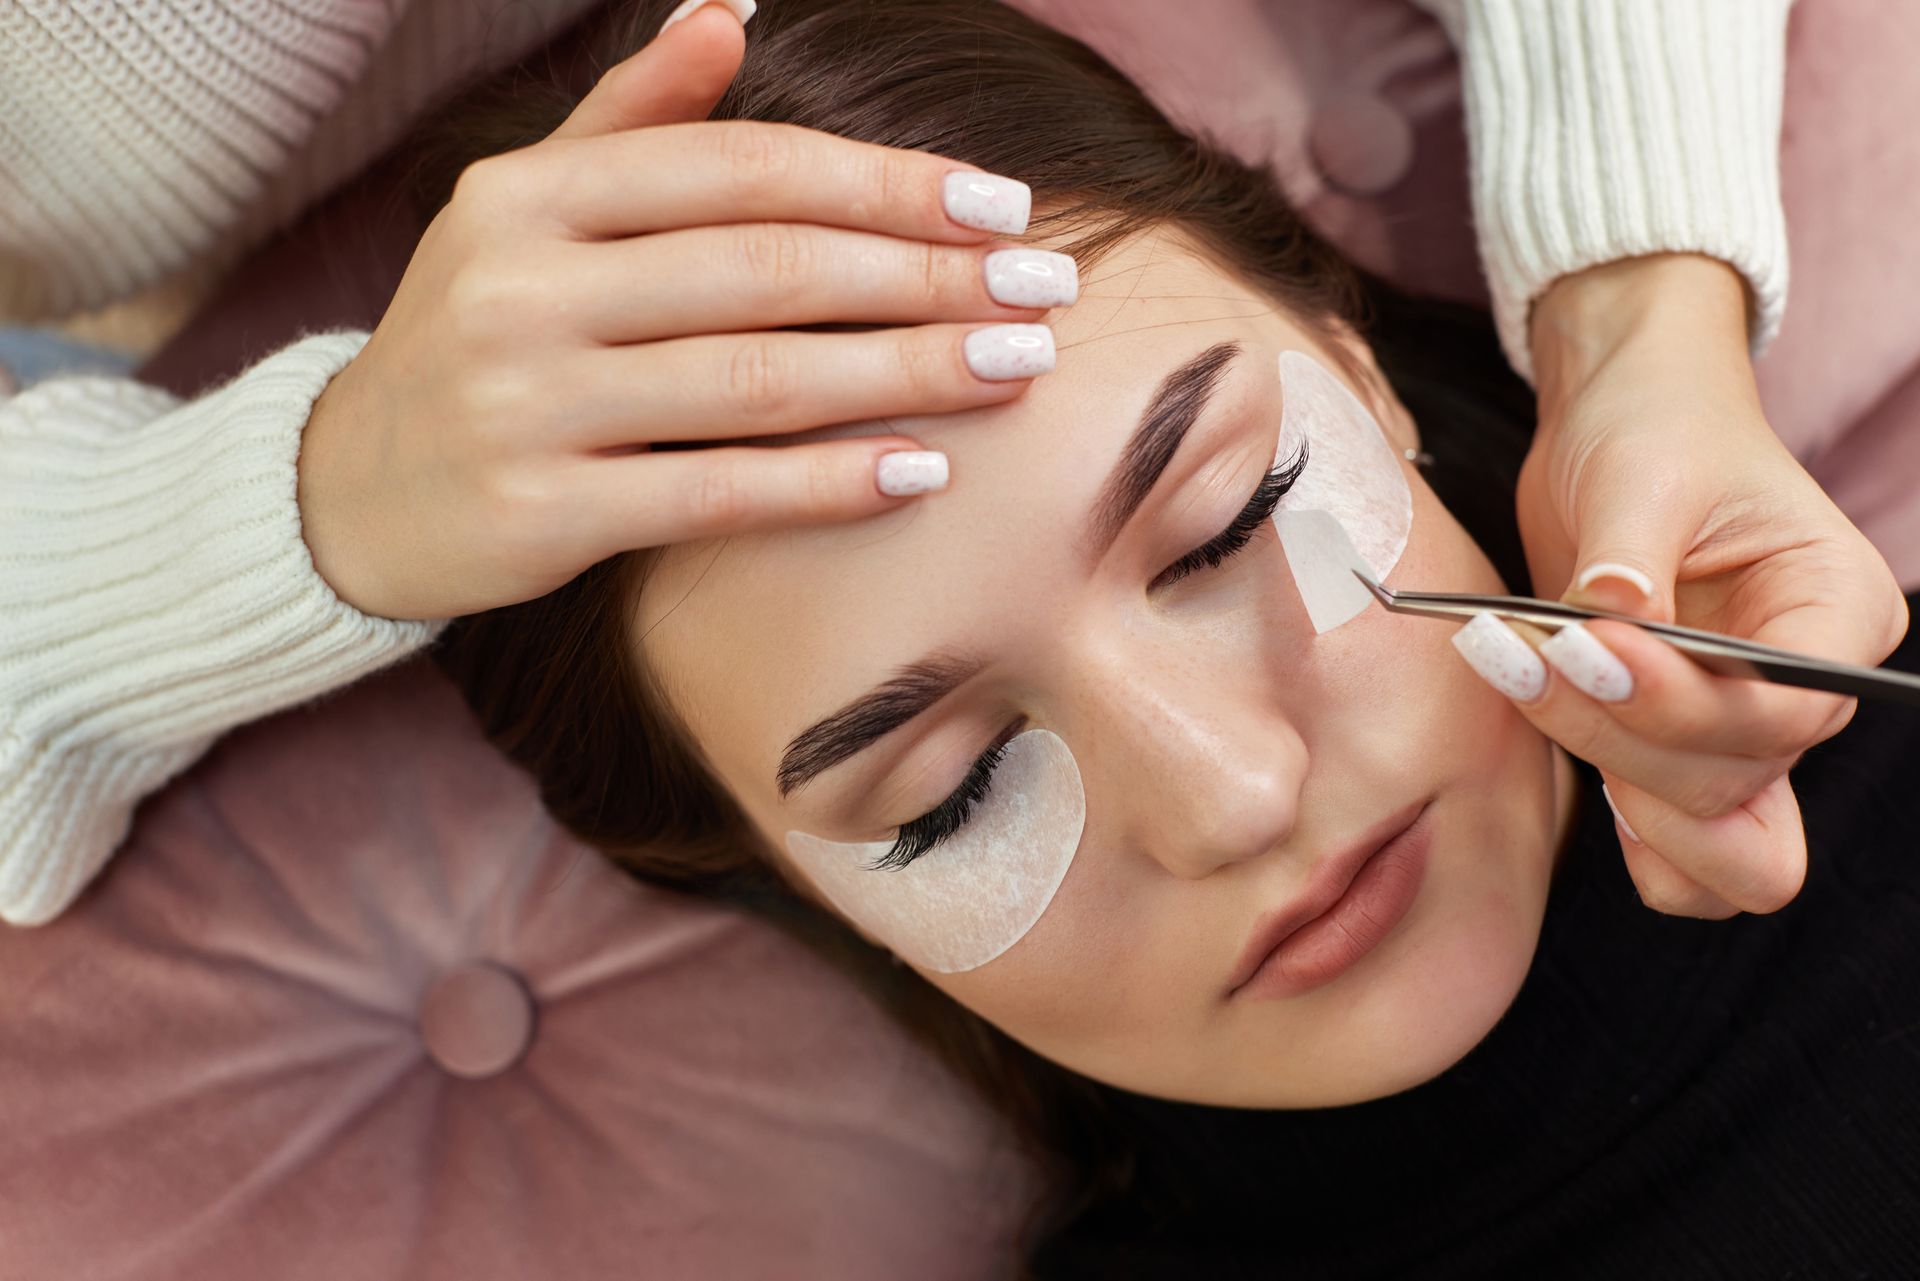
{"type": "Polygon", "coordinates": [[[0,918],[65,910],[223,732],[447,626],[355,611],[301,540],[301,430],[365,342],[305,336],[190,403],[96,376],[0,399],[0,918]]]}

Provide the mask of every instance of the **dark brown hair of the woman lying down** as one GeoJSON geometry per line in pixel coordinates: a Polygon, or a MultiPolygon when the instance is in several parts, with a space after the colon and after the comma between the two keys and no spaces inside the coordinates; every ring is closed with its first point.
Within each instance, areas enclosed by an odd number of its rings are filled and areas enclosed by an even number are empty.
{"type": "MultiPolygon", "coordinates": [[[[589,36],[591,71],[637,50],[672,0],[618,4],[589,36]]],[[[578,102],[564,77],[495,77],[420,134],[420,225],[482,156],[536,142],[578,102]]],[[[1361,317],[1346,261],[1271,177],[1175,129],[1081,42],[995,0],[774,0],[712,119],[783,121],[924,148],[1027,182],[1029,236],[1060,236],[1085,271],[1121,240],[1175,225],[1304,323],[1361,317]]],[[[1505,490],[1511,495],[1511,486],[1505,490]]],[[[972,1081],[1025,1141],[1050,1193],[1029,1241],[1121,1189],[1129,1150],[1104,1091],[1033,1054],[789,891],[630,655],[653,563],[628,551],[520,605],[455,620],[434,659],[555,818],[634,876],[760,912],[849,972],[972,1081]]]]}

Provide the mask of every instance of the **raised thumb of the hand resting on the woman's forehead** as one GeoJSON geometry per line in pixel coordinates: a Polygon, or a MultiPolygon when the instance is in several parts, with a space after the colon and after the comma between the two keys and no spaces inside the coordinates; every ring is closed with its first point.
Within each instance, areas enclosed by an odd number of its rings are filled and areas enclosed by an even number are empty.
{"type": "Polygon", "coordinates": [[[612,65],[549,136],[586,138],[707,119],[747,52],[755,0],[687,0],[639,52],[612,65]],[[687,19],[687,21],[682,21],[687,19]]]}

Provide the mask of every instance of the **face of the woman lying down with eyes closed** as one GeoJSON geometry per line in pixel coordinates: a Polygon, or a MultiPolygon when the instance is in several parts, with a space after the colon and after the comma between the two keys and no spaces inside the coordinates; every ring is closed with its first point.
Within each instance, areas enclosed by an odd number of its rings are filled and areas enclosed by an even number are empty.
{"type": "MultiPolygon", "coordinates": [[[[972,968],[916,970],[1039,1054],[1210,1104],[1398,1093],[1459,1060],[1519,991],[1571,774],[1461,663],[1450,626],[1369,607],[1315,632],[1271,520],[1217,567],[1164,570],[1225,530],[1275,465],[1279,357],[1300,351],[1371,407],[1411,490],[1388,582],[1501,584],[1400,461],[1417,444],[1405,411],[1375,380],[1340,375],[1327,340],[1169,232],[1127,242],[1091,275],[1048,317],[1058,367],[1023,396],[889,424],[948,453],[945,492],[862,522],[676,547],[641,595],[636,636],[776,862],[829,908],[787,834],[889,841],[1010,730],[1058,736],[1069,766],[1029,753],[1020,786],[1035,795],[989,786],[975,807],[1004,837],[962,830],[922,855],[962,857],[968,893],[1006,908],[989,924],[1018,937],[972,968]],[[1200,409],[1165,469],[1110,542],[1092,538],[1091,513],[1162,380],[1202,353],[1217,361],[1221,344],[1233,355],[1210,396],[1188,398],[1200,409]],[[920,697],[833,722],[887,682],[920,697]],[[822,722],[881,732],[828,753],[843,759],[799,786],[789,770],[783,793],[789,747],[822,722]],[[1060,818],[1079,799],[1083,820],[1060,818]],[[1423,809],[1417,891],[1371,951],[1306,991],[1231,991],[1261,918],[1423,809]]],[[[862,910],[837,914],[868,939],[902,956],[954,943],[937,897],[866,910],[912,897],[902,878],[924,866],[849,868],[837,895],[862,910]],[[862,928],[879,918],[883,931],[862,928]]],[[[977,928],[966,937],[977,945],[977,928]]]]}

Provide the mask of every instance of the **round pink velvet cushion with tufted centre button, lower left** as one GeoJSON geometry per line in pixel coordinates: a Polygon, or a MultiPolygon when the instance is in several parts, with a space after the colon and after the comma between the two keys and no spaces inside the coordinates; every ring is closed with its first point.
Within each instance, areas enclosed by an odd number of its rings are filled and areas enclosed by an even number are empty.
{"type": "Polygon", "coordinates": [[[424,659],[0,930],[0,1279],[1004,1275],[1027,1168],[772,928],[555,828],[424,659]]]}

